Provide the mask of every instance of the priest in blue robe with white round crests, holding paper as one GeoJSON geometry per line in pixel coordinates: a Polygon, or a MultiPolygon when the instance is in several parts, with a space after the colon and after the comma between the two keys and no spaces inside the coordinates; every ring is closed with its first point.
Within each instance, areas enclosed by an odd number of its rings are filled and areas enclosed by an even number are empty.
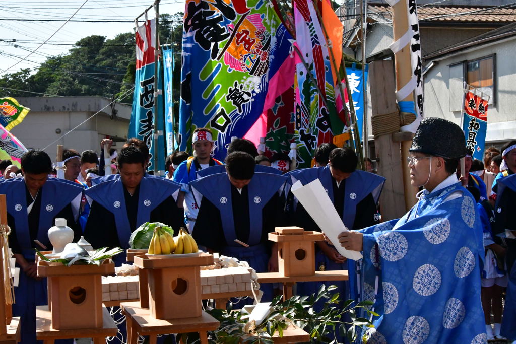
{"type": "Polygon", "coordinates": [[[401,219],[339,241],[362,251],[363,300],[376,300],[368,342],[485,343],[480,303],[482,225],[475,200],[458,183],[462,129],[425,118],[410,148],[413,186],[424,187],[401,219]]]}

